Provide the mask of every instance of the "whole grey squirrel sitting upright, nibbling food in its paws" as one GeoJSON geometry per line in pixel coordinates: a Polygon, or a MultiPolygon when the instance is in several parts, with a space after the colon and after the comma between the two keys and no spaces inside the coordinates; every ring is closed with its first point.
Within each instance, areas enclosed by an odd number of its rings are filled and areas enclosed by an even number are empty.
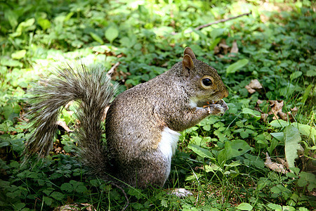
{"type": "Polygon", "coordinates": [[[30,99],[27,155],[51,151],[61,108],[78,101],[79,156],[93,174],[138,188],[164,186],[178,132],[228,110],[223,101],[228,91],[217,71],[197,60],[189,47],[183,60],[162,75],[114,98],[116,89],[96,65],[69,65],[40,79],[30,99]],[[106,143],[102,143],[105,115],[106,143]]]}

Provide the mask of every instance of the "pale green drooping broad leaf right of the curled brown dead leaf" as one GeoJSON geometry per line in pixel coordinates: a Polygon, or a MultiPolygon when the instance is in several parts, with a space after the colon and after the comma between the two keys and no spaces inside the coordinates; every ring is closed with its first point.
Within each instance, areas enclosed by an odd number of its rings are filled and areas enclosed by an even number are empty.
{"type": "Polygon", "coordinates": [[[295,167],[294,161],[298,157],[297,150],[300,148],[298,142],[301,141],[300,132],[293,125],[284,129],[285,158],[289,167],[295,167]]]}

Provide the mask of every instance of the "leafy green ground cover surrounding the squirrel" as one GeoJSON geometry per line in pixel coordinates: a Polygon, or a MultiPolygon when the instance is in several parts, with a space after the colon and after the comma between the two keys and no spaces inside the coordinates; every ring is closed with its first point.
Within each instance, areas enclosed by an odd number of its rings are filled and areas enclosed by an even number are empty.
{"type": "MultiPolygon", "coordinates": [[[[121,210],[124,194],[88,177],[74,157],[71,133],[60,129],[56,151],[22,165],[29,136],[27,90],[56,65],[81,59],[103,63],[106,70],[119,62],[113,79],[121,92],[171,68],[185,46],[218,70],[230,91],[225,99],[230,110],[181,133],[164,188],[185,187],[193,196],[126,188],[128,210],[315,209],[315,4],[25,0],[3,1],[0,8],[1,210],[53,210],[74,203],[121,210]],[[238,51],[230,53],[235,42],[238,51]],[[251,79],[263,89],[249,94],[245,86],[251,79]],[[288,120],[270,114],[263,121],[261,114],[272,109],[269,101],[283,101],[288,120]],[[272,162],[286,161],[287,173],[268,168],[266,153],[272,162]]],[[[70,129],[76,122],[72,110],[60,117],[70,129]]]]}

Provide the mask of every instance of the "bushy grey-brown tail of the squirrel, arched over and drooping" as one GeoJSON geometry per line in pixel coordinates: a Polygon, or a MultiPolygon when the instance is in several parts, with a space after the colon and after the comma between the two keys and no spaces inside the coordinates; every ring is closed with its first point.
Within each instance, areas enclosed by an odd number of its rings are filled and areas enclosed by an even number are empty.
{"type": "Polygon", "coordinates": [[[70,101],[79,102],[76,131],[81,158],[96,172],[104,171],[107,158],[100,143],[101,122],[117,86],[112,85],[102,65],[64,65],[52,75],[39,80],[32,91],[29,122],[32,134],[27,141],[26,153],[48,155],[53,148],[58,114],[70,101]],[[102,170],[103,169],[103,170],[102,170]]]}

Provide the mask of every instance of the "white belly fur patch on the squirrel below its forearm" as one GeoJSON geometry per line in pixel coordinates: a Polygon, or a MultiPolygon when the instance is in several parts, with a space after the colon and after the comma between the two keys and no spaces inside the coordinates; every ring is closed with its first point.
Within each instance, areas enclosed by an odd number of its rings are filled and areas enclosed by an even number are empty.
{"type": "Polygon", "coordinates": [[[166,179],[168,179],[171,169],[171,157],[176,152],[180,134],[169,127],[165,127],[162,131],[162,140],[159,142],[159,150],[164,155],[166,162],[166,179]]]}

